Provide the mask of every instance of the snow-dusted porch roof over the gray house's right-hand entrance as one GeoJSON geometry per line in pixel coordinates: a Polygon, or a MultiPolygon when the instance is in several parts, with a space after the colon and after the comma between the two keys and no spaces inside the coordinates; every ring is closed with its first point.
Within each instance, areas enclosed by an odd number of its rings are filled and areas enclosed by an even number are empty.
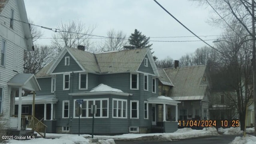
{"type": "Polygon", "coordinates": [[[169,104],[169,105],[177,106],[178,103],[181,103],[180,101],[173,100],[172,98],[167,96],[151,97],[151,98],[148,98],[147,100],[149,104],[169,104]]]}

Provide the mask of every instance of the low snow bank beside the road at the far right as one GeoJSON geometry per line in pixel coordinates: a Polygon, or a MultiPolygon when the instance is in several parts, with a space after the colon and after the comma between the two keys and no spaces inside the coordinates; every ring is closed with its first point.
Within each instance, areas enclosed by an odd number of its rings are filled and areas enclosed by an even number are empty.
{"type": "MultiPolygon", "coordinates": [[[[240,127],[218,128],[218,132],[223,132],[223,134],[244,134],[240,127]]],[[[254,133],[254,128],[246,128],[246,133],[254,133]]]]}

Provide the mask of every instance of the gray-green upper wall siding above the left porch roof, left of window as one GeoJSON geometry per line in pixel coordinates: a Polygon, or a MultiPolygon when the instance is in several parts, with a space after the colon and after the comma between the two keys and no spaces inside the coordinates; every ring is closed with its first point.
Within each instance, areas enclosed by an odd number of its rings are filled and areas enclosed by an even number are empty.
{"type": "Polygon", "coordinates": [[[54,94],[51,89],[52,78],[37,78],[36,80],[41,88],[41,91],[36,92],[36,96],[49,96],[54,94]]]}

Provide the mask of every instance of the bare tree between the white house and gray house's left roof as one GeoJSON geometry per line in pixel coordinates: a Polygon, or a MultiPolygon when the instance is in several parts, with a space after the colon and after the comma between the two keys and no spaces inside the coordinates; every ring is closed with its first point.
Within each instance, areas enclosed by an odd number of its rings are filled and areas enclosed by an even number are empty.
{"type": "Polygon", "coordinates": [[[52,61],[54,50],[49,46],[35,46],[34,51],[24,52],[24,73],[36,74],[52,61]]]}

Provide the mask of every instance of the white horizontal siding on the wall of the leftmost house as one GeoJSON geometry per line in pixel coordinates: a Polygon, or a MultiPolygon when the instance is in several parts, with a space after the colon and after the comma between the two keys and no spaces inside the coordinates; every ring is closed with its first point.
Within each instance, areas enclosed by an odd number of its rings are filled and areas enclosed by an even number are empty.
{"type": "MultiPolygon", "coordinates": [[[[10,18],[11,9],[14,10],[14,19],[20,20],[20,15],[16,0],[9,0],[1,12],[2,16],[10,18]]],[[[0,87],[4,88],[3,111],[6,112],[6,126],[9,126],[10,114],[10,92],[11,88],[7,83],[18,73],[23,72],[23,56],[26,50],[24,32],[20,22],[14,21],[14,28],[10,28],[10,19],[0,17],[0,48],[2,48],[2,39],[6,40],[5,66],[0,66],[0,87]],[[18,56],[14,53],[18,51],[18,56]],[[14,72],[14,60],[18,62],[14,72]]]]}

